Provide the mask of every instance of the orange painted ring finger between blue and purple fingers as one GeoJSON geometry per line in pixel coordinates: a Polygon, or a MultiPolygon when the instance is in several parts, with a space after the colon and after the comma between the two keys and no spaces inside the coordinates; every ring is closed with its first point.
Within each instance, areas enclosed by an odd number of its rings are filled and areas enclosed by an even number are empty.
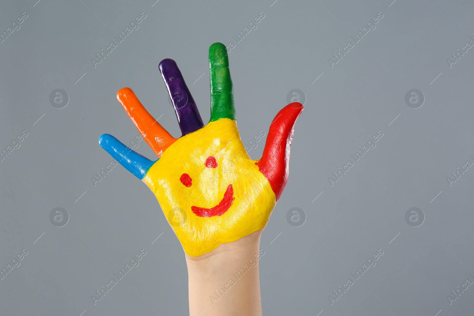
{"type": "Polygon", "coordinates": [[[176,138],[170,135],[170,133],[148,113],[130,88],[118,90],[117,99],[125,109],[125,112],[127,112],[133,124],[137,126],[138,131],[146,143],[153,149],[158,158],[161,157],[161,154],[176,141],[176,138]]]}

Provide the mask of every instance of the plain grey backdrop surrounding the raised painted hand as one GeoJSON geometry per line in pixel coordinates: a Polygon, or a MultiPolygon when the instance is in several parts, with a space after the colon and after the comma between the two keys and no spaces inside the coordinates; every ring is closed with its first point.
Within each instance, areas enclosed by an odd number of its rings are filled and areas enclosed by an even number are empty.
{"type": "MultiPolygon", "coordinates": [[[[94,187],[91,177],[111,161],[97,139],[110,133],[129,144],[138,134],[116,100],[122,87],[180,135],[158,70],[164,58],[178,63],[208,120],[209,45],[235,43],[259,12],[257,29],[229,53],[244,144],[268,131],[288,91],[307,99],[290,178],[261,239],[264,315],[473,313],[473,287],[452,305],[447,295],[473,280],[474,171],[451,187],[446,178],[473,162],[474,52],[452,68],[446,59],[474,44],[474,4],[273,1],[1,2],[2,32],[28,14],[0,44],[1,150],[28,133],[0,162],[1,268],[28,251],[0,280],[2,315],[188,314],[179,241],[152,192],[123,167],[94,187]],[[91,58],[140,12],[139,29],[94,68],[91,58]],[[378,12],[376,28],[331,68],[328,58],[378,12]],[[55,89],[69,94],[65,108],[49,103],[55,89]],[[410,89],[424,93],[422,107],[405,104],[410,89]],[[379,130],[376,147],[331,187],[328,177],[379,130]],[[63,227],[49,221],[56,207],[69,213],[63,227]],[[286,220],[294,207],[306,213],[300,227],[286,220]],[[405,222],[412,207],[424,212],[419,227],[405,222]],[[91,295],[140,249],[139,266],[94,306],[91,295]],[[378,249],[376,266],[331,305],[332,291],[378,249]]],[[[253,159],[264,140],[257,144],[253,159]]],[[[144,141],[137,151],[155,159],[144,141]]]]}

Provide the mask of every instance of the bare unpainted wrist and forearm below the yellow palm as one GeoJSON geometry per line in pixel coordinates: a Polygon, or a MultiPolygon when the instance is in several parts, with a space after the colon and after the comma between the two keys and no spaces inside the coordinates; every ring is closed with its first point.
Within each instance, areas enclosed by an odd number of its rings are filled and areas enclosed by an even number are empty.
{"type": "Polygon", "coordinates": [[[199,257],[186,255],[190,316],[262,315],[258,273],[261,233],[222,244],[199,257]]]}

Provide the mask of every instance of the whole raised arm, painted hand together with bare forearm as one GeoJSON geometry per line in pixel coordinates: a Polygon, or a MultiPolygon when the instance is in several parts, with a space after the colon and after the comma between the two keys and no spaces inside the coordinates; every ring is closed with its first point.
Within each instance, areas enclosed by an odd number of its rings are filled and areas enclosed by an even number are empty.
{"type": "Polygon", "coordinates": [[[260,235],[288,180],[290,144],[303,106],[291,103],[277,113],[262,158],[251,160],[237,129],[223,44],[210,46],[209,66],[211,115],[204,125],[176,63],[164,59],[159,64],[182,131],[179,138],[148,113],[131,89],[118,91],[118,101],[157,161],[109,134],[101,135],[99,144],[152,190],[180,240],[190,315],[261,315],[260,235]]]}

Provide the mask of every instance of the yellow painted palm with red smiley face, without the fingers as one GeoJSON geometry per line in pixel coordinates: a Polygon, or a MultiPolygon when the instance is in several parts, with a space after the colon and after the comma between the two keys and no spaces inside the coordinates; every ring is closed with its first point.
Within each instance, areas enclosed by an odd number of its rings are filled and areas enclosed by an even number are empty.
{"type": "Polygon", "coordinates": [[[228,118],[179,138],[143,181],[191,256],[264,228],[276,200],[270,183],[246,153],[236,122],[228,118]],[[215,158],[217,167],[206,166],[209,157],[215,158]],[[189,175],[187,181],[180,180],[183,174],[189,175]],[[203,208],[224,213],[195,214],[203,208]]]}

